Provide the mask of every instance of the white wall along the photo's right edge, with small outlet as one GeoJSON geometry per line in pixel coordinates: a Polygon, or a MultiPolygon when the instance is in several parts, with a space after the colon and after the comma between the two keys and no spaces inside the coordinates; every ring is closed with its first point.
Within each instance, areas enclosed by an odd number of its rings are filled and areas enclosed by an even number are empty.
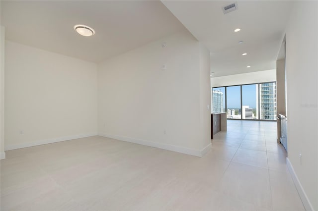
{"type": "Polygon", "coordinates": [[[318,210],[317,1],[295,1],[286,29],[286,76],[288,159],[305,208],[318,210]]]}

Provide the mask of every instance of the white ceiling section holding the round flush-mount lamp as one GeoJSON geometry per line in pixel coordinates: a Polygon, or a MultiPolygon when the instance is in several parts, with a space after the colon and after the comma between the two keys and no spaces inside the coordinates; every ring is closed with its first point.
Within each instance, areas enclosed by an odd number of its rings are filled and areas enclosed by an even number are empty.
{"type": "Polygon", "coordinates": [[[4,1],[1,25],[5,39],[83,60],[100,62],[184,26],[160,1],[4,1]],[[82,37],[74,25],[92,27],[82,37]]]}

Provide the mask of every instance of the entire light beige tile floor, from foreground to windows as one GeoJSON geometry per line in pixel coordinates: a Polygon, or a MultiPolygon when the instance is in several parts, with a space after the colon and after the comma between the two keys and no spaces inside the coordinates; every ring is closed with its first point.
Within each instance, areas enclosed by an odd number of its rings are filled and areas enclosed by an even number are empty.
{"type": "Polygon", "coordinates": [[[5,210],[304,210],[276,122],[228,120],[197,158],[100,136],[12,150],[5,210]]]}

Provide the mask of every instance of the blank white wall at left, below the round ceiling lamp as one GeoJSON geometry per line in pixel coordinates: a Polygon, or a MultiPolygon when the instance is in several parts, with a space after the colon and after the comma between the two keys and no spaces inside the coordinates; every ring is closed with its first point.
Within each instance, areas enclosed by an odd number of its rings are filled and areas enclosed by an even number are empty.
{"type": "Polygon", "coordinates": [[[96,64],[6,41],[5,150],[96,134],[96,64]]]}

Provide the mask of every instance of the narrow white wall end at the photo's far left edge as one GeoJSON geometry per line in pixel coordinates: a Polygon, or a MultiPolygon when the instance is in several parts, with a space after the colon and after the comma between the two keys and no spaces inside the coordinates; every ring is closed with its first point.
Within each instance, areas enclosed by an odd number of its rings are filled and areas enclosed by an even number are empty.
{"type": "Polygon", "coordinates": [[[0,29],[0,158],[5,158],[4,152],[4,27],[0,29]]]}

